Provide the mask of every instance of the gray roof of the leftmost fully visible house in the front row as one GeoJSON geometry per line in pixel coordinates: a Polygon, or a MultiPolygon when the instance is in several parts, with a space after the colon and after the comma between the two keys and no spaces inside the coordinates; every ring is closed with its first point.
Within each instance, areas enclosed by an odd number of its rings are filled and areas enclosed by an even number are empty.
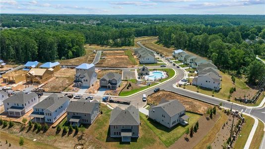
{"type": "Polygon", "coordinates": [[[35,92],[25,93],[23,91],[20,91],[6,98],[4,102],[24,104],[31,100],[33,97],[38,98],[38,95],[35,92]]]}

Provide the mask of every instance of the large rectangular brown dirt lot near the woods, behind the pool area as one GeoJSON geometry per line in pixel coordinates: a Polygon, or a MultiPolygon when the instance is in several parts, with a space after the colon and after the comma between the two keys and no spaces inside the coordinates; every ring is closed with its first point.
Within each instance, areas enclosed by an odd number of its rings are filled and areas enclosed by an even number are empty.
{"type": "Polygon", "coordinates": [[[124,51],[103,51],[99,63],[96,64],[96,67],[112,67],[112,68],[121,68],[121,67],[133,67],[133,63],[130,61],[129,57],[125,55],[124,51]]]}

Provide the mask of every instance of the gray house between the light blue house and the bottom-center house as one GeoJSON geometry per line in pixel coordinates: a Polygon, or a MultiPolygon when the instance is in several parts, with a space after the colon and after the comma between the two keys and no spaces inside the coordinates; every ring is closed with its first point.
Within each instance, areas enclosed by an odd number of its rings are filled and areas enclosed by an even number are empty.
{"type": "Polygon", "coordinates": [[[81,98],[77,101],[70,101],[66,109],[67,122],[72,126],[80,124],[91,125],[99,114],[99,102],[97,100],[85,100],[81,98]]]}

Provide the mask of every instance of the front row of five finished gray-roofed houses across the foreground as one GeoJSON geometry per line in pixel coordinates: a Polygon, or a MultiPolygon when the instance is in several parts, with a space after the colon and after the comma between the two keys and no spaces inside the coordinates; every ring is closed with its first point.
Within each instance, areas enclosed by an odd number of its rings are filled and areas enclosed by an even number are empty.
{"type": "MultiPolygon", "coordinates": [[[[81,98],[71,101],[67,96],[59,97],[55,93],[38,102],[36,93],[21,91],[3,100],[3,104],[5,112],[14,116],[22,116],[33,108],[29,116],[35,122],[41,123],[54,123],[66,113],[67,122],[72,126],[91,125],[100,113],[100,103],[97,100],[81,98]]],[[[189,120],[185,107],[178,100],[165,99],[158,105],[151,105],[149,118],[169,129],[179,123],[186,125],[189,120]]],[[[132,138],[139,137],[139,126],[139,110],[133,105],[126,109],[116,107],[112,110],[109,121],[110,137],[131,142],[132,138]]]]}

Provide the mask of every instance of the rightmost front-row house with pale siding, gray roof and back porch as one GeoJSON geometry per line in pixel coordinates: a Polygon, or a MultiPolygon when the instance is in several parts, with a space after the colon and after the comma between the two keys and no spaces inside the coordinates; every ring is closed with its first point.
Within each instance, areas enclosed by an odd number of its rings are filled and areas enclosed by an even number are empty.
{"type": "Polygon", "coordinates": [[[186,108],[178,100],[162,99],[158,105],[151,105],[149,109],[149,118],[172,128],[178,123],[188,124],[189,117],[185,114],[186,108]]]}

